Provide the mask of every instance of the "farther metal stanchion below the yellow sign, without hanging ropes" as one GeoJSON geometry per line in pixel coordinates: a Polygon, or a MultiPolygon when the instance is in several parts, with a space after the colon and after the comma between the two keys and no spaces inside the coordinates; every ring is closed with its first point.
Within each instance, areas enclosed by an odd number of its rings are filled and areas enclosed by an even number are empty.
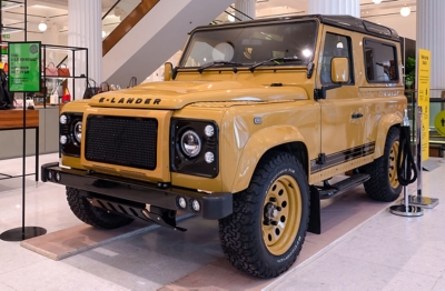
{"type": "Polygon", "coordinates": [[[417,108],[416,126],[417,195],[409,195],[409,204],[432,209],[438,204],[438,199],[422,195],[422,107],[417,108]]]}

